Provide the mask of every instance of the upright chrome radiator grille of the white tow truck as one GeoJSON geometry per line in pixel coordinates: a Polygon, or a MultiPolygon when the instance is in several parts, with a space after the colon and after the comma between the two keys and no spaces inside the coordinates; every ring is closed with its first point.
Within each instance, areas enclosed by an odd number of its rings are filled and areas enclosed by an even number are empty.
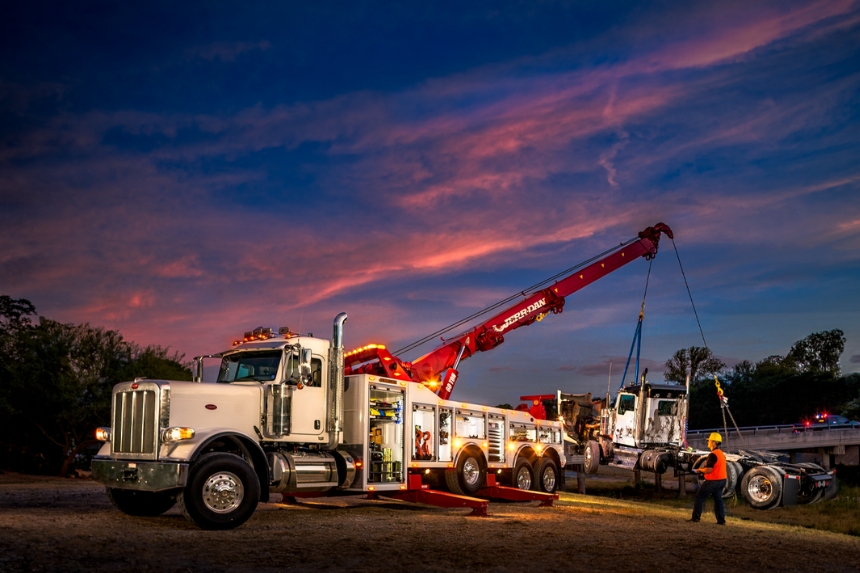
{"type": "Polygon", "coordinates": [[[111,437],[114,457],[158,458],[159,387],[157,384],[146,386],[114,391],[111,437]]]}

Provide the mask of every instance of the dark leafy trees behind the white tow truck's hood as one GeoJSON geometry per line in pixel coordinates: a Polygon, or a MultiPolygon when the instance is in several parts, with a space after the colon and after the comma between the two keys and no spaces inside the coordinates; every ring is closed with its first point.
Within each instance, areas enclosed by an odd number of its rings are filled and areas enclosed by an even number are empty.
{"type": "Polygon", "coordinates": [[[183,358],[115,330],[37,318],[29,300],[0,296],[0,469],[68,475],[86,466],[95,429],[110,425],[114,385],[191,380],[183,358]]]}

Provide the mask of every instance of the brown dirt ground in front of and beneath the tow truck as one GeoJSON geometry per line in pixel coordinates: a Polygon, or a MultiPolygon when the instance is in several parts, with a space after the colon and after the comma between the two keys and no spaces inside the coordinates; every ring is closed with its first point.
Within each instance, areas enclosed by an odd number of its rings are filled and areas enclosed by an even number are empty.
{"type": "MultiPolygon", "coordinates": [[[[575,488],[575,481],[569,484],[575,488]]],[[[274,496],[277,498],[278,496],[274,496]]],[[[260,504],[231,531],[115,510],[90,480],[0,474],[0,572],[860,571],[860,538],[562,493],[489,517],[360,497],[260,504]],[[700,569],[705,567],[706,569],[700,569]]]]}

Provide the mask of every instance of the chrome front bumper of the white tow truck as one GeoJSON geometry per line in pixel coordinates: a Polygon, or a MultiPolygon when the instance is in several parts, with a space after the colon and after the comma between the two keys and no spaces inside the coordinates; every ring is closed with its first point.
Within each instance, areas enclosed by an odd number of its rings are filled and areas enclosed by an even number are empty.
{"type": "Polygon", "coordinates": [[[107,487],[164,491],[185,487],[188,464],[94,459],[92,478],[107,487]]]}

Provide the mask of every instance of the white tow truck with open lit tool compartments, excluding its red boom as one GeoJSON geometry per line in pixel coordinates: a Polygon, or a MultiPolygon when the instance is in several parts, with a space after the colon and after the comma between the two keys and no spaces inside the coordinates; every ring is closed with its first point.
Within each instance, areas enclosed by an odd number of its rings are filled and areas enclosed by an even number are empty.
{"type": "Polygon", "coordinates": [[[246,333],[195,358],[194,382],[118,384],[93,479],[129,515],[178,504],[204,529],[241,525],[273,493],[384,495],[478,515],[487,502],[474,496],[557,498],[560,422],[440,399],[414,381],[344,376],[345,321],[331,343],[288,328],[246,333]],[[221,360],[217,383],[202,383],[204,358],[221,360]]]}

